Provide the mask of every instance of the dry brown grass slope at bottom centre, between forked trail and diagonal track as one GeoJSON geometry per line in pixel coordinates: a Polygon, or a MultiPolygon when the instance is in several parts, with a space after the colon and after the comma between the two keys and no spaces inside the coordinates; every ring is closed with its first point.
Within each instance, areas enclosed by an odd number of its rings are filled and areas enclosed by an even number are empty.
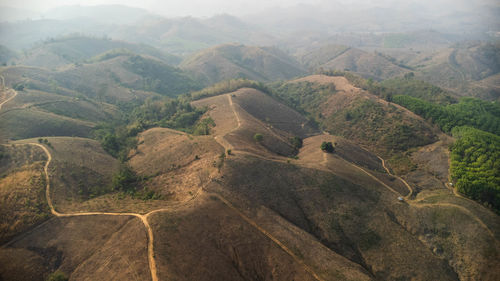
{"type": "Polygon", "coordinates": [[[175,280],[315,280],[216,197],[151,218],[159,276],[175,280]]]}

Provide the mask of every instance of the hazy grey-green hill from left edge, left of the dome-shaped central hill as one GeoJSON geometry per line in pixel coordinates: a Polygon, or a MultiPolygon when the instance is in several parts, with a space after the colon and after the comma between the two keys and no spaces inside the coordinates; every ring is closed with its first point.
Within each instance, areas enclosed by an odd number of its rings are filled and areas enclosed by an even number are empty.
{"type": "Polygon", "coordinates": [[[199,84],[182,70],[161,61],[131,53],[110,54],[95,61],[69,65],[60,70],[12,66],[1,70],[6,85],[22,84],[27,89],[85,96],[117,103],[146,97],[177,96],[199,89],[199,84]]]}

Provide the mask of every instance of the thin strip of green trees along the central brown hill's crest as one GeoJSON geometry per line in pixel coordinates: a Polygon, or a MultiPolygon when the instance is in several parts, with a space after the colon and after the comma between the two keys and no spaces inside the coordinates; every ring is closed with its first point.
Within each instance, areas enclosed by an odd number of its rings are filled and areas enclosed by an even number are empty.
{"type": "Polygon", "coordinates": [[[256,82],[248,79],[231,79],[216,83],[212,86],[206,87],[203,90],[192,92],[191,98],[193,100],[199,100],[206,97],[213,97],[231,93],[241,88],[254,88],[264,93],[269,92],[269,89],[261,82],[256,82]]]}

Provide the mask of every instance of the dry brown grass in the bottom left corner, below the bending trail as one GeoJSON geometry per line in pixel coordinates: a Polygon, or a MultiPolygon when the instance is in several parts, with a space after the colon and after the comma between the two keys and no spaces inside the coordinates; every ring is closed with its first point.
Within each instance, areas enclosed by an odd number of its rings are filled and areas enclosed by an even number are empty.
{"type": "Polygon", "coordinates": [[[0,276],[45,280],[60,270],[81,280],[148,280],[144,245],[146,233],[136,218],[53,218],[0,249],[0,276]]]}

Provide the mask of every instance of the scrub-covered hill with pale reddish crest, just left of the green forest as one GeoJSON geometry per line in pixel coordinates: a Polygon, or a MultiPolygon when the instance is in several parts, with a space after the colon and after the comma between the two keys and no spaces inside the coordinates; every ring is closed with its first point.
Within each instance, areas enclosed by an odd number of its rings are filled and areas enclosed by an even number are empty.
{"type": "Polygon", "coordinates": [[[344,77],[308,76],[276,85],[275,92],[316,118],[323,129],[377,151],[405,151],[436,140],[433,129],[420,117],[344,77]]]}

